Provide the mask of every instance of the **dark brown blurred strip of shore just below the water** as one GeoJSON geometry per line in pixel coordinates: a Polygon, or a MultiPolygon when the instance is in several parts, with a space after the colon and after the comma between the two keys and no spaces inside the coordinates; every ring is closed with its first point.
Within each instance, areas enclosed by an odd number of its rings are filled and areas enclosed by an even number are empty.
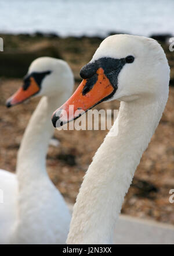
{"type": "MultiPolygon", "coordinates": [[[[118,34],[121,31],[113,31],[108,34],[118,34]]],[[[157,40],[166,53],[171,66],[171,82],[174,86],[174,52],[169,51],[169,38],[171,34],[153,34],[151,38],[157,40]]],[[[55,33],[34,34],[1,34],[3,38],[3,52],[0,54],[3,66],[0,66],[0,77],[21,78],[27,72],[31,62],[42,56],[64,59],[74,72],[75,81],[79,82],[79,71],[90,61],[103,37],[59,37],[55,33]]]]}

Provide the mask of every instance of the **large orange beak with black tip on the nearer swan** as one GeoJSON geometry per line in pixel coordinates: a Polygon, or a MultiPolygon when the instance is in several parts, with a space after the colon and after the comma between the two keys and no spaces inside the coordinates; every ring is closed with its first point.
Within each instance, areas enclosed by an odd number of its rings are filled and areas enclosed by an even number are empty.
{"type": "Polygon", "coordinates": [[[96,74],[97,80],[94,84],[90,83],[91,78],[82,80],[70,99],[53,113],[52,122],[54,127],[60,127],[78,118],[90,108],[106,100],[114,92],[114,87],[104,74],[103,68],[97,69],[96,74]],[[89,83],[92,87],[90,90],[87,89],[87,93],[85,93],[86,83],[89,83]]]}

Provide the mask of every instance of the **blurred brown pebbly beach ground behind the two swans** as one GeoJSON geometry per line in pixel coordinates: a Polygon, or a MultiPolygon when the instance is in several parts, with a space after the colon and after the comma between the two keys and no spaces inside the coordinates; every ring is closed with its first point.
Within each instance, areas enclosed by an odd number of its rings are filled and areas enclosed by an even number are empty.
{"type": "MultiPolygon", "coordinates": [[[[79,69],[90,60],[99,42],[96,39],[89,44],[88,38],[84,38],[83,42],[73,41],[72,44],[69,41],[63,43],[60,39],[55,43],[54,40],[53,44],[59,43],[61,55],[73,68],[78,81],[79,69]],[[82,51],[82,47],[88,48],[88,51],[82,51]]],[[[38,41],[35,47],[41,44],[38,41]]],[[[11,44],[12,40],[9,45],[11,44]]],[[[43,39],[42,44],[45,44],[43,39]]],[[[23,49],[25,47],[29,47],[26,41],[23,43],[23,49]]],[[[173,64],[173,57],[169,58],[173,64]]],[[[17,150],[24,129],[39,100],[32,99],[29,103],[6,108],[6,99],[19,88],[21,83],[22,80],[19,78],[3,77],[0,80],[0,168],[9,171],[15,171],[17,150]]],[[[118,107],[119,103],[113,101],[102,103],[96,108],[117,109],[118,107]]],[[[169,203],[169,190],[174,188],[173,107],[174,87],[170,87],[164,114],[136,170],[133,184],[125,197],[122,213],[174,224],[174,204],[169,203]]],[[[106,134],[107,131],[55,131],[55,137],[59,139],[60,145],[58,148],[49,146],[48,173],[67,201],[75,201],[85,171],[106,134]]]]}

